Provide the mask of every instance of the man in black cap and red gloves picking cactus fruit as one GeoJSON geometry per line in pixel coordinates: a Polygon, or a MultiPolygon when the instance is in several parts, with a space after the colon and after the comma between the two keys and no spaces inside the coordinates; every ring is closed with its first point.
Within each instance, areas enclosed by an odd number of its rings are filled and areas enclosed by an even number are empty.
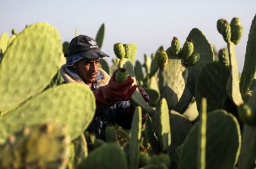
{"type": "MultiPolygon", "coordinates": [[[[61,67],[61,76],[65,83],[81,83],[94,91],[96,114],[87,130],[94,132],[98,139],[105,139],[107,124],[116,123],[130,129],[133,107],[129,99],[137,88],[136,85],[131,86],[131,76],[123,83],[114,80],[115,73],[110,78],[99,68],[99,59],[109,55],[99,49],[93,38],[85,35],[79,35],[71,40],[66,56],[66,64],[61,67]]],[[[140,90],[149,100],[145,91],[142,88],[140,90]]]]}

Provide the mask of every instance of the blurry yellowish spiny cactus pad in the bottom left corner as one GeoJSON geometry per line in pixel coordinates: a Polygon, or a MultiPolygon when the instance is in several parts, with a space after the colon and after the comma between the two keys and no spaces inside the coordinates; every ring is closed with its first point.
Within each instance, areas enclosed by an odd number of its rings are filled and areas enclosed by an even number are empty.
{"type": "Polygon", "coordinates": [[[54,124],[25,127],[1,146],[1,168],[65,168],[68,144],[63,127],[54,124]]]}

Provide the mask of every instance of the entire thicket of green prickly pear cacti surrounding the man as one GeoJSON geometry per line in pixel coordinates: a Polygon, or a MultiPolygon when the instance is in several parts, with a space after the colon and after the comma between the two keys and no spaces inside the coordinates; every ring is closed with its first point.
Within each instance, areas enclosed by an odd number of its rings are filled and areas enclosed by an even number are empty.
{"type": "MultiPolygon", "coordinates": [[[[13,29],[11,37],[3,33],[0,168],[256,168],[256,16],[240,78],[235,45],[241,23],[217,20],[227,44],[218,54],[198,28],[183,46],[173,37],[166,50],[143,55],[144,63],[136,61],[134,43],[114,44],[116,58],[111,67],[101,59],[102,69],[118,69],[117,83],[131,76],[150,100],[135,90],[131,129],[101,124],[104,140],[87,131],[96,109],[92,91],[61,85],[59,68],[69,44],[61,44],[58,30],[39,22],[13,29]]],[[[99,47],[104,32],[102,24],[99,47]]]]}

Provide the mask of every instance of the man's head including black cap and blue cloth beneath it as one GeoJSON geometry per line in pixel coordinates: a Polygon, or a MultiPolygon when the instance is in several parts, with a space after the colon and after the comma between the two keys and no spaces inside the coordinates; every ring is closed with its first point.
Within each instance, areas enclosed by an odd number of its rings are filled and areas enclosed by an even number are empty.
{"type": "Polygon", "coordinates": [[[68,48],[67,67],[73,67],[85,83],[93,83],[99,71],[99,59],[109,55],[99,49],[94,38],[79,35],[68,48]]]}

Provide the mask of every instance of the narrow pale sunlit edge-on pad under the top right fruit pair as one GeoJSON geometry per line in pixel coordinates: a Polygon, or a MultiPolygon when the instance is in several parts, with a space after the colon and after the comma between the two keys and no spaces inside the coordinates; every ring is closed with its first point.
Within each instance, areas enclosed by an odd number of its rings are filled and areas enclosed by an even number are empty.
{"type": "Polygon", "coordinates": [[[235,44],[233,42],[228,43],[228,53],[229,53],[229,79],[226,86],[229,98],[235,103],[236,107],[243,103],[241,98],[240,88],[239,88],[239,72],[238,72],[238,62],[236,59],[235,44]]]}

